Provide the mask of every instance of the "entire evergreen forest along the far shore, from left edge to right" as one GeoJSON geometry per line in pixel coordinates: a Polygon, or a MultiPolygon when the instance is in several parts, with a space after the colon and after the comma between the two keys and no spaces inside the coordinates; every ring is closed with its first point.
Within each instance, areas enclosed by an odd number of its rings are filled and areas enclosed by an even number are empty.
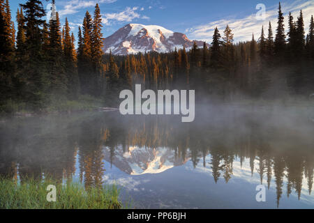
{"type": "MultiPolygon", "coordinates": [[[[54,1],[53,1],[54,2],[54,1]]],[[[16,27],[8,0],[0,0],[0,105],[25,103],[43,109],[51,100],[77,100],[79,95],[101,98],[116,106],[121,89],[143,84],[147,89],[195,89],[197,98],[232,100],[241,95],[281,98],[313,93],[314,21],[306,33],[303,13],[287,17],[287,35],[278,8],[276,34],[269,22],[259,38],[234,43],[227,25],[212,43],[173,52],[114,56],[103,53],[100,8],[94,17],[87,11],[77,36],[68,20],[61,27],[59,15],[49,24],[38,0],[20,4],[16,27]],[[82,28],[81,28],[82,27],[82,28]],[[265,34],[266,33],[266,34],[265,34]]],[[[274,25],[274,24],[273,24],[274,25]]]]}

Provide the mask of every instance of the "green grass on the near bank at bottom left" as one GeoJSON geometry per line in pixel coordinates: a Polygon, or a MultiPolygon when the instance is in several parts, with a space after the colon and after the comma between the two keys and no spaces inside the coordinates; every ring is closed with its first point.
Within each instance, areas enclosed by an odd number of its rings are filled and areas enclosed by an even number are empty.
{"type": "Polygon", "coordinates": [[[80,183],[62,185],[54,180],[34,180],[22,183],[0,178],[0,209],[120,209],[128,208],[119,201],[119,189],[112,186],[85,190],[80,183]],[[48,185],[56,185],[57,201],[48,202],[48,185]]]}

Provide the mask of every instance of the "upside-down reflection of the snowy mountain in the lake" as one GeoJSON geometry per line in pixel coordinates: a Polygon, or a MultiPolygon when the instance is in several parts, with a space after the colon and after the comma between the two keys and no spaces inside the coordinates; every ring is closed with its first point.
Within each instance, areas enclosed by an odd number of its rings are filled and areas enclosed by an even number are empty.
{"type": "Polygon", "coordinates": [[[174,151],[167,148],[130,147],[124,152],[121,146],[110,153],[110,148],[104,148],[107,162],[130,175],[158,174],[172,167],[180,166],[188,161],[175,157],[174,151]]]}

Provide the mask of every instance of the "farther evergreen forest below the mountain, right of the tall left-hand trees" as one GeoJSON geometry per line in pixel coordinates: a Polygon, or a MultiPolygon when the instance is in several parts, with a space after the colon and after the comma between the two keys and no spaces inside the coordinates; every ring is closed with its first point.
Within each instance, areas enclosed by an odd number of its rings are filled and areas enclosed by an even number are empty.
{"type": "MultiPolygon", "coordinates": [[[[107,56],[107,78],[113,89],[143,84],[147,89],[195,89],[197,98],[232,100],[236,96],[283,98],[313,93],[314,21],[306,34],[302,10],[295,21],[288,16],[285,34],[281,3],[276,34],[271,22],[262,26],[259,37],[234,43],[226,26],[220,35],[214,30],[211,44],[174,52],[147,52],[128,56],[107,56]],[[267,29],[267,30],[266,30],[267,29]],[[114,86],[112,86],[114,85],[114,86]]],[[[119,92],[119,91],[117,91],[119,92]]],[[[114,92],[110,91],[108,94],[114,92]]],[[[117,95],[114,98],[119,98],[117,95]]]]}

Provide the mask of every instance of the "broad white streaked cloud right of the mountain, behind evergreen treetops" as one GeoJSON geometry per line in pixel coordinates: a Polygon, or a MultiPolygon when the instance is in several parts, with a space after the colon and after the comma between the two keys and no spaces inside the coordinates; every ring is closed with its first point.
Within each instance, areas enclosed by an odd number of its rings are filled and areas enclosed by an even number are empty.
{"type": "MultiPolygon", "coordinates": [[[[285,30],[287,31],[287,15],[291,11],[294,20],[299,16],[299,11],[302,10],[304,15],[304,24],[306,26],[306,31],[311,20],[311,15],[314,13],[314,1],[304,1],[297,0],[293,3],[282,4],[282,10],[285,16],[285,30]]],[[[257,10],[256,10],[257,12],[257,10]]],[[[248,15],[240,19],[234,19],[232,17],[217,20],[214,22],[209,22],[207,24],[202,24],[199,26],[194,26],[191,29],[186,29],[186,33],[189,38],[204,40],[208,43],[211,43],[212,36],[214,34],[214,29],[216,26],[220,30],[220,34],[223,33],[225,26],[228,24],[234,33],[235,41],[245,41],[251,40],[252,33],[255,34],[255,39],[260,36],[260,31],[264,25],[264,31],[267,33],[269,21],[271,22],[273,32],[275,33],[278,17],[278,5],[271,6],[267,8],[265,20],[257,20],[256,14],[248,15]]]]}

